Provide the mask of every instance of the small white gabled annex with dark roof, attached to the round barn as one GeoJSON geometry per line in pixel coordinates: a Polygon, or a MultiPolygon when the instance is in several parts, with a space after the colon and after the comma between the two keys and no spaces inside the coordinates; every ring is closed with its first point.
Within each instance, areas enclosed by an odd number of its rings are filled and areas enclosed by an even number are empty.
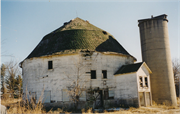
{"type": "Polygon", "coordinates": [[[114,74],[118,104],[135,107],[152,105],[150,73],[145,62],[123,65],[114,74]]]}

